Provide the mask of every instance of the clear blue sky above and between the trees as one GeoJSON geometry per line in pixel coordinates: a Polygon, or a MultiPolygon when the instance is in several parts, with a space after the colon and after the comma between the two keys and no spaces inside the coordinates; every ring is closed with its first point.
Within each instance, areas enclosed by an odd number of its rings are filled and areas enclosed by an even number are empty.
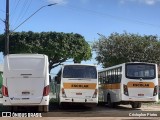
{"type": "MultiPolygon", "coordinates": [[[[0,34],[5,29],[5,7],[6,0],[1,0],[0,34]]],[[[15,32],[79,33],[92,44],[100,37],[97,33],[109,36],[126,31],[160,36],[159,11],[160,0],[10,0],[9,23],[10,30],[15,32]],[[57,4],[46,6],[53,3],[57,4]]],[[[83,63],[96,64],[95,57],[93,53],[93,58],[83,63]]],[[[3,63],[2,53],[0,63],[3,63]]],[[[100,65],[98,69],[101,69],[100,65]]]]}

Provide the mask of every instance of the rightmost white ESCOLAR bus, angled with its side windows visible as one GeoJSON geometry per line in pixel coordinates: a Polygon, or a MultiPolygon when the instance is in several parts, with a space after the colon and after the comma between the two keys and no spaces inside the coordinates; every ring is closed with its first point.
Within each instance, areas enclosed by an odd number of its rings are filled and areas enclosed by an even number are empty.
{"type": "Polygon", "coordinates": [[[130,62],[98,72],[99,102],[110,107],[131,104],[140,108],[143,102],[158,101],[158,69],[156,64],[130,62]]]}

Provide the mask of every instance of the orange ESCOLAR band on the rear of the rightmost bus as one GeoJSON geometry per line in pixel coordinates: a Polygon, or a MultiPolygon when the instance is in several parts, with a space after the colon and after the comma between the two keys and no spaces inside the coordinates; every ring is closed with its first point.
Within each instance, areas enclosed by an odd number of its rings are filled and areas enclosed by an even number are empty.
{"type": "Polygon", "coordinates": [[[154,88],[153,82],[128,82],[128,88],[154,88]]]}

